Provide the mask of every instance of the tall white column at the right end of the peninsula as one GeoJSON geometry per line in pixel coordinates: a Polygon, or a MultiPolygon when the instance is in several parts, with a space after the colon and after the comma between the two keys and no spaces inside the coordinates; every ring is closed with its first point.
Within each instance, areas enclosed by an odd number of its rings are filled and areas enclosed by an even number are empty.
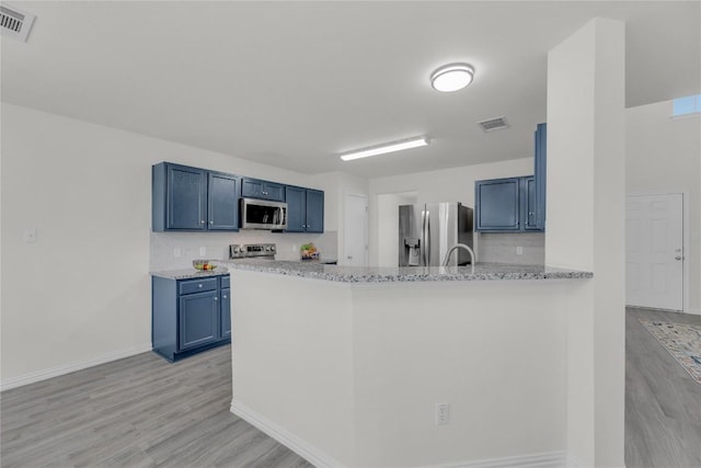
{"type": "Polygon", "coordinates": [[[548,54],[545,263],[589,270],[567,308],[567,452],[622,467],[624,24],[594,19],[548,54]]]}

